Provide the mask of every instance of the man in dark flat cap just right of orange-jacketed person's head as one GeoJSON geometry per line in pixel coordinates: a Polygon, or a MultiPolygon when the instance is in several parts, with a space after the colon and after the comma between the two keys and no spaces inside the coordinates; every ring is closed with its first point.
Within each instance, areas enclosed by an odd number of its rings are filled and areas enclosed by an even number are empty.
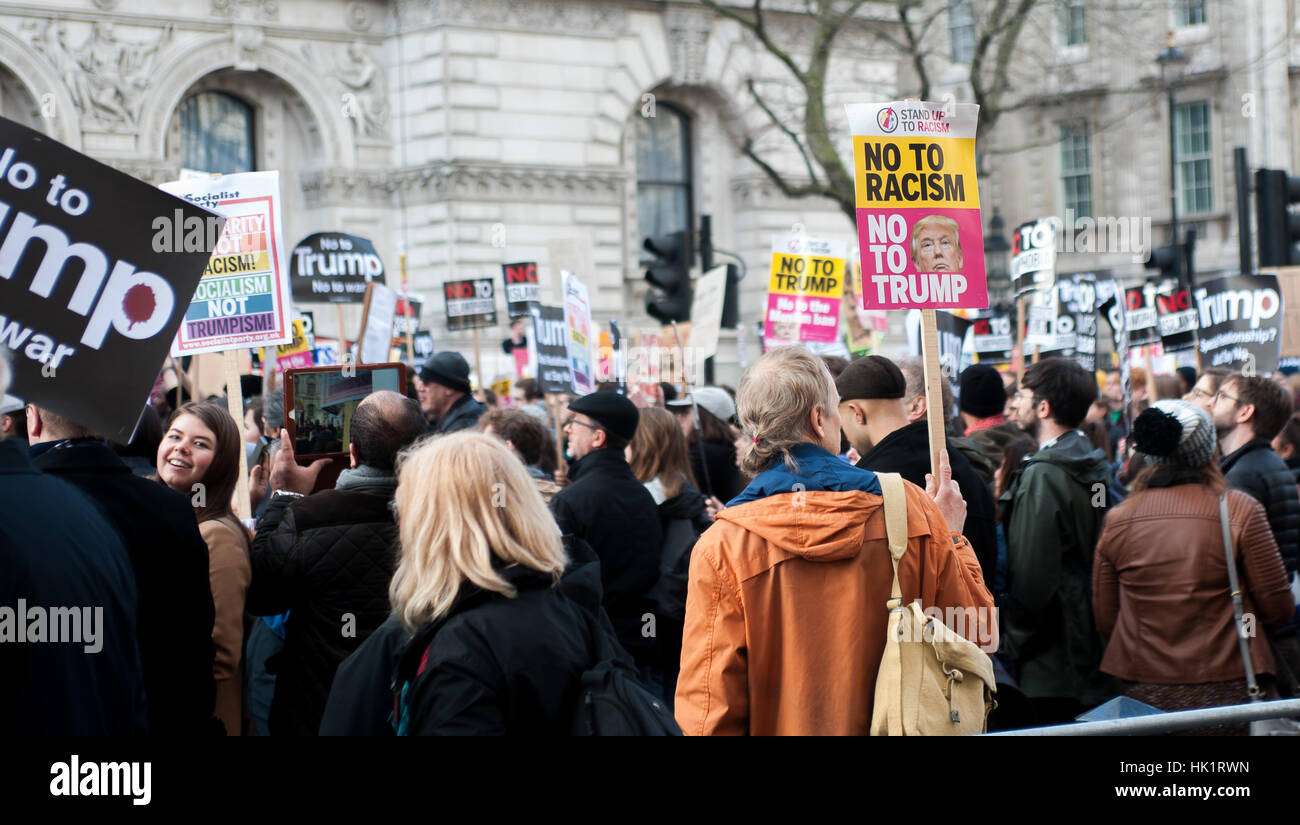
{"type": "MultiPolygon", "coordinates": [[[[904,398],[907,379],[898,365],[879,355],[849,364],[835,382],[840,391],[840,422],[849,443],[862,455],[858,466],[872,473],[898,473],[926,486],[930,472],[930,430],[926,417],[907,422],[904,398]]],[[[993,581],[997,564],[997,520],[993,494],[971,463],[954,444],[946,443],[953,481],[966,499],[963,535],[979,559],[984,581],[993,581]]]]}

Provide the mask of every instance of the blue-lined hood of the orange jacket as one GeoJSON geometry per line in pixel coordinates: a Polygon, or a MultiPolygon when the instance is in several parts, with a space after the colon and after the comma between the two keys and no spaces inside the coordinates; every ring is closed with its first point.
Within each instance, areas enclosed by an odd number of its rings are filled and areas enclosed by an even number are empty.
{"type": "Polygon", "coordinates": [[[732,499],[719,521],[729,521],[768,544],[809,561],[852,559],[862,550],[866,524],[881,505],[880,482],[815,444],[792,451],[798,472],[777,461],[732,499]]]}

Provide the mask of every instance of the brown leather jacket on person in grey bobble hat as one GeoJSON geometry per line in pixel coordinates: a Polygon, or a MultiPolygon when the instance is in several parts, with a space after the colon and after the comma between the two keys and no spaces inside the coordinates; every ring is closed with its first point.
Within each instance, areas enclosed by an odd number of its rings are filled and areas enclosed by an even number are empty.
{"type": "MultiPolygon", "coordinates": [[[[1260,503],[1228,491],[1251,655],[1273,673],[1264,628],[1295,613],[1278,544],[1260,503]]],[[[1106,514],[1092,566],[1101,670],[1134,682],[1200,685],[1244,676],[1223,557],[1218,496],[1202,485],[1138,492],[1106,514]]]]}

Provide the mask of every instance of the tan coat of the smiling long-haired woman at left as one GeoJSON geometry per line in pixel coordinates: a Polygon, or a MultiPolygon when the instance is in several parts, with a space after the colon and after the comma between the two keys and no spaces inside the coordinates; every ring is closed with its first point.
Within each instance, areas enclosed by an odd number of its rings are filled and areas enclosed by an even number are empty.
{"type": "Polygon", "coordinates": [[[213,716],[226,726],[226,734],[238,737],[242,730],[243,703],[239,679],[239,657],[243,652],[243,605],[252,579],[248,561],[248,534],[233,517],[211,518],[199,525],[208,543],[208,579],[216,621],[212,642],[217,656],[212,676],[217,682],[213,716]]]}

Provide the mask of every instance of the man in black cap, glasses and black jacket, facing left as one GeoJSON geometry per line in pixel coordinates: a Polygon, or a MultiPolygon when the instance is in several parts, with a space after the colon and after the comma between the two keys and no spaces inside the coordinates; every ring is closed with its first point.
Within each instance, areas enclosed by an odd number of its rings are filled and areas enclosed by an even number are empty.
{"type": "Polygon", "coordinates": [[[551,512],[562,533],[586,540],[599,556],[604,611],[637,664],[647,664],[656,644],[642,617],[651,609],[646,594],[659,578],[663,530],[654,498],[623,452],[637,418],[636,405],[618,392],[593,392],[569,404],[569,485],[551,499],[551,512]]]}

